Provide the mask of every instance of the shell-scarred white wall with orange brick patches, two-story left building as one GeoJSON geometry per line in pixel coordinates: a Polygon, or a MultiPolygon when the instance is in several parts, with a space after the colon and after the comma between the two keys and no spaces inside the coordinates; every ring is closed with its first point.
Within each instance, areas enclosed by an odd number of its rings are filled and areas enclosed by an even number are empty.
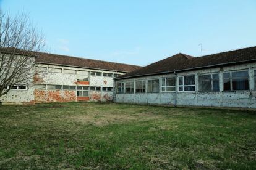
{"type": "Polygon", "coordinates": [[[37,67],[61,68],[62,73],[40,73],[35,75],[33,83],[27,86],[27,90],[11,89],[6,95],[1,97],[3,104],[22,104],[22,103],[46,103],[46,102],[75,102],[75,101],[112,101],[114,91],[103,91],[102,87],[114,87],[113,77],[105,77],[102,73],[112,73],[124,75],[118,71],[93,70],[85,68],[66,67],[58,65],[36,64],[37,67]],[[89,72],[89,81],[77,81],[77,74],[63,73],[64,69],[80,70],[89,72]],[[91,71],[101,72],[101,76],[90,76],[91,71]],[[88,86],[88,97],[77,96],[77,90],[64,89],[36,89],[36,84],[66,85],[66,86],[88,86]],[[101,87],[101,91],[90,91],[91,86],[101,87]]]}

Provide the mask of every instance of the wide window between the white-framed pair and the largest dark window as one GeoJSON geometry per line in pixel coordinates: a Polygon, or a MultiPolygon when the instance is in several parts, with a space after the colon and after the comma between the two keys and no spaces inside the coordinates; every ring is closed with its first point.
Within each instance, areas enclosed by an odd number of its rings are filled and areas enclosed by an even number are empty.
{"type": "Polygon", "coordinates": [[[198,76],[198,91],[220,91],[219,74],[198,76]]]}

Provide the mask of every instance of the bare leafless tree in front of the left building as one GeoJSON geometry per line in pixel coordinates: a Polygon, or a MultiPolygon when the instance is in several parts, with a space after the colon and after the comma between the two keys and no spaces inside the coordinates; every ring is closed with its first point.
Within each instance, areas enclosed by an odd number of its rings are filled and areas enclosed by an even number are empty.
{"type": "Polygon", "coordinates": [[[13,17],[0,10],[0,97],[12,87],[33,82],[36,52],[45,46],[43,40],[27,14],[13,17]]]}

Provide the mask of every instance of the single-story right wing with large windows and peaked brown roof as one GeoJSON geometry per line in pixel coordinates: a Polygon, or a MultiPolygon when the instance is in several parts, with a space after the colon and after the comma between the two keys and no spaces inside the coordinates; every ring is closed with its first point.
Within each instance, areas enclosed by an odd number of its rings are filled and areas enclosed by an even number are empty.
{"type": "Polygon", "coordinates": [[[256,108],[256,47],[176,54],[115,78],[116,103],[256,108]]]}

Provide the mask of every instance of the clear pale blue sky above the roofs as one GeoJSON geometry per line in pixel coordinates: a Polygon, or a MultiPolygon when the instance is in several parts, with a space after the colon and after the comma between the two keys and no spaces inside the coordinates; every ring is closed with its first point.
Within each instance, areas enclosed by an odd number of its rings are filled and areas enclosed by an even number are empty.
{"type": "Polygon", "coordinates": [[[0,0],[24,10],[49,52],[148,65],[182,52],[200,56],[256,46],[256,1],[0,0]]]}

